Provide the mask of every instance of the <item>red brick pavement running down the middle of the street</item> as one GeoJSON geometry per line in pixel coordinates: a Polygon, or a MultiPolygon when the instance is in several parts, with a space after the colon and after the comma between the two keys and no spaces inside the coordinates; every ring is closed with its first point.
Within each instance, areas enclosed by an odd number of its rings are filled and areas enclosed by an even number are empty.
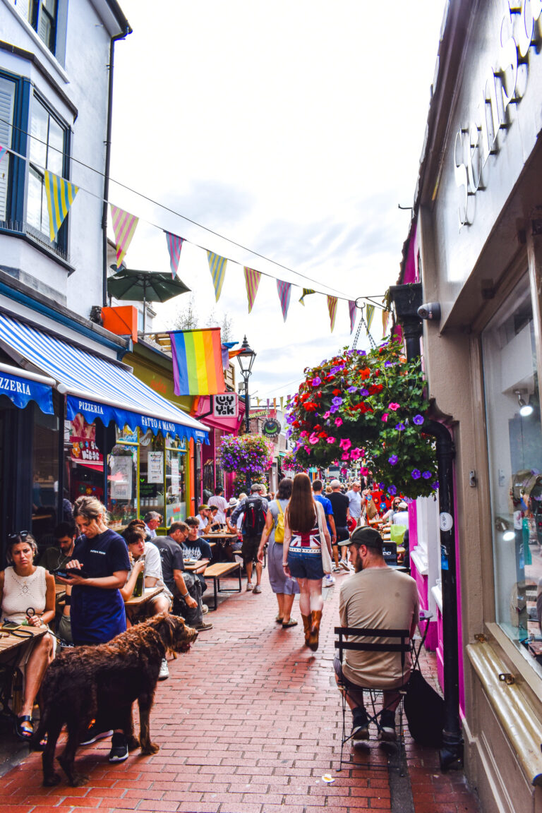
{"type": "MultiPolygon", "coordinates": [[[[341,578],[338,576],[337,583],[341,578]]],[[[207,617],[214,628],[170,663],[158,685],[151,731],[158,754],[107,760],[109,741],[81,748],[89,785],[41,787],[41,757],[31,754],[0,780],[5,813],[189,811],[189,813],[358,813],[391,811],[388,770],[376,742],[356,750],[356,767],[337,772],[340,699],[332,674],[338,589],[329,590],[316,654],[295,628],[275,624],[275,598],[233,594],[207,617]],[[331,774],[327,784],[324,774],[331,774]]],[[[434,659],[424,658],[434,676],[434,659]]],[[[461,773],[441,775],[438,754],[407,739],[416,813],[477,813],[461,773]]],[[[349,748],[346,749],[349,754],[349,748]]],[[[397,810],[397,806],[396,806],[397,810]]]]}

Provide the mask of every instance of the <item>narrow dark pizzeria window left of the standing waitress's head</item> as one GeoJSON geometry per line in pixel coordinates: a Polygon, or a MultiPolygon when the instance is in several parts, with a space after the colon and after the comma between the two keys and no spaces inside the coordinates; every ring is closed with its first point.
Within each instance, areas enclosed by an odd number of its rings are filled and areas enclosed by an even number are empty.
{"type": "Polygon", "coordinates": [[[33,405],[32,533],[46,546],[57,524],[59,504],[59,419],[33,405]]]}

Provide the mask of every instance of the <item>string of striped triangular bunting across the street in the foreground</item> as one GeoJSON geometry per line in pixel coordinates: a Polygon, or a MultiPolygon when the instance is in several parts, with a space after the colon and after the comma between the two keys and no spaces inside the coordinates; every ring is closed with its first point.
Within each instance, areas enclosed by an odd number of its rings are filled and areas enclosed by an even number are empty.
{"type": "MultiPolygon", "coordinates": [[[[14,150],[10,150],[9,148],[0,145],[0,161],[2,161],[2,159],[5,157],[7,153],[12,153],[16,157],[24,159],[24,155],[20,155],[19,153],[16,153],[14,150]]],[[[66,219],[68,211],[70,211],[72,207],[72,204],[76,198],[76,194],[82,188],[76,186],[75,184],[72,184],[65,178],[62,178],[58,175],[54,175],[53,172],[49,172],[48,170],[46,170],[45,172],[45,186],[46,186],[47,208],[49,211],[49,220],[50,220],[50,239],[51,241],[54,241],[57,237],[57,234],[59,233],[59,228],[62,226],[63,221],[66,219]]],[[[93,192],[90,192],[88,189],[84,189],[84,191],[93,195],[94,198],[99,197],[93,192]]],[[[136,215],[132,215],[130,212],[125,211],[120,207],[114,206],[111,202],[109,202],[109,207],[111,210],[111,223],[113,226],[113,231],[115,233],[115,245],[117,250],[116,251],[117,267],[120,267],[121,263],[124,260],[124,257],[128,252],[128,248],[130,246],[130,243],[132,242],[132,238],[136,232],[137,224],[139,223],[140,219],[136,215]]],[[[153,225],[155,228],[160,228],[153,223],[150,223],[150,225],[153,225]]],[[[165,229],[162,229],[162,231],[166,236],[167,252],[170,259],[171,276],[175,278],[175,276],[179,272],[181,248],[183,246],[183,243],[187,242],[187,240],[185,237],[180,237],[180,235],[167,232],[165,229]]],[[[197,243],[193,243],[192,245],[197,246],[197,248],[203,248],[203,246],[198,246],[197,243]]],[[[205,250],[209,262],[211,279],[213,282],[213,286],[215,288],[215,298],[216,302],[218,302],[220,294],[222,293],[224,280],[226,278],[226,267],[228,264],[228,258],[222,257],[220,254],[215,254],[215,252],[210,251],[208,249],[205,250]]],[[[230,260],[230,262],[236,265],[241,264],[236,263],[236,260],[230,260]]],[[[249,268],[246,266],[244,267],[244,272],[245,272],[245,285],[248,298],[249,313],[252,311],[254,307],[254,300],[256,298],[256,294],[258,293],[258,286],[260,284],[262,276],[269,276],[271,277],[271,279],[276,280],[280,309],[282,311],[283,320],[285,322],[288,317],[288,310],[290,307],[290,298],[293,283],[287,282],[285,280],[280,280],[278,277],[275,277],[272,274],[256,271],[254,268],[249,268]]],[[[356,310],[357,310],[356,302],[346,297],[323,294],[323,292],[317,291],[312,288],[303,288],[301,298],[299,299],[301,305],[304,306],[305,297],[313,293],[319,293],[323,296],[326,296],[327,298],[327,311],[329,313],[331,332],[333,332],[335,328],[337,303],[339,299],[348,302],[350,334],[352,334],[356,322],[356,310]]],[[[376,307],[382,307],[383,309],[382,324],[384,330],[383,333],[384,338],[388,326],[388,310],[386,307],[383,306],[376,307]]],[[[373,320],[374,315],[375,315],[375,305],[369,304],[369,302],[367,302],[366,319],[365,319],[367,333],[369,333],[369,329],[371,328],[371,322],[373,320]]]]}

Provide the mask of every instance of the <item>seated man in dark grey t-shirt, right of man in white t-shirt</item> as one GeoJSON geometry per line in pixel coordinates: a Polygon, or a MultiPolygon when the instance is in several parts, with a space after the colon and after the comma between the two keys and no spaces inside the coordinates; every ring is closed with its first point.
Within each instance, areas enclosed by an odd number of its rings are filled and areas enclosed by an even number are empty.
{"type": "Polygon", "coordinates": [[[170,593],[180,602],[184,620],[201,631],[211,629],[213,625],[203,620],[202,586],[197,576],[184,570],[182,543],[188,533],[188,525],[174,522],[167,537],[154,537],[151,544],[158,548],[163,580],[170,593]]]}

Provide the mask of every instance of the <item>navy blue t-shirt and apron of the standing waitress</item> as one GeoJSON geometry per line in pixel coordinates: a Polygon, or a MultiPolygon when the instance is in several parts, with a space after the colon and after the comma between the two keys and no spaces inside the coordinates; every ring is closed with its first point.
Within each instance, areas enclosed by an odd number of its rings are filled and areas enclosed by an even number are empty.
{"type": "MultiPolygon", "coordinates": [[[[99,579],[119,570],[130,570],[128,546],[123,537],[107,528],[97,537],[76,540],[73,559],[85,576],[99,579]]],[[[103,644],[126,629],[124,601],[118,589],[72,587],[72,637],[75,644],[103,644]]]]}

